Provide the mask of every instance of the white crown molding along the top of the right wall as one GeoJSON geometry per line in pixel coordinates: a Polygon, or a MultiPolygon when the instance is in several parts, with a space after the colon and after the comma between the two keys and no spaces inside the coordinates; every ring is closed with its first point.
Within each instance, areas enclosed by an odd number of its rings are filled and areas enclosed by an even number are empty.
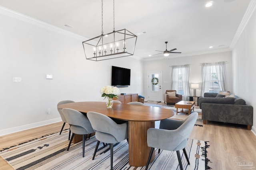
{"type": "Polygon", "coordinates": [[[236,45],[236,42],[238,41],[239,37],[241,36],[242,32],[244,31],[244,28],[246,27],[246,24],[248,23],[252,14],[254,13],[255,8],[256,8],[256,0],[251,0],[247,9],[246,9],[244,17],[242,18],[242,21],[241,21],[241,23],[240,23],[240,25],[239,25],[239,27],[236,31],[236,34],[235,34],[232,42],[230,43],[230,46],[229,46],[230,49],[233,49],[234,46],[236,45]]]}

